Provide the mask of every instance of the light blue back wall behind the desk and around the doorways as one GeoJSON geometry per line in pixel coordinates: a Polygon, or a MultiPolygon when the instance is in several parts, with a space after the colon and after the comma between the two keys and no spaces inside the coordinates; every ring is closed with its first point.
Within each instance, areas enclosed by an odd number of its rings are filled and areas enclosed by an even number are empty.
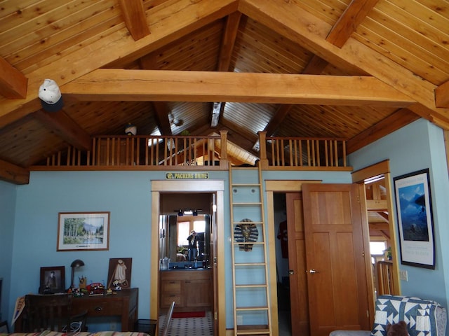
{"type": "MultiPolygon", "coordinates": [[[[245,173],[242,174],[241,179],[246,179],[245,173]]],[[[227,172],[210,172],[209,176],[224,180],[225,185],[228,183],[227,172]]],[[[234,177],[239,179],[239,173],[234,177]]],[[[139,318],[149,318],[153,179],[165,179],[164,172],[32,172],[29,185],[17,187],[15,220],[11,221],[15,225],[8,319],[11,321],[17,297],[38,290],[40,267],[65,266],[68,287],[69,265],[78,258],[86,265],[76,271],[76,276],[87,276],[88,283],[107,282],[109,258],[133,258],[131,286],[139,288],[139,318]],[[58,213],[83,211],[111,212],[109,251],[57,252],[58,213]]],[[[328,183],[348,183],[350,174],[283,172],[280,178],[279,174],[267,172],[264,179],[323,179],[328,183]]],[[[223,211],[227,232],[223,259],[225,267],[231,269],[230,243],[227,244],[231,230],[227,188],[223,211]]],[[[233,323],[231,272],[227,272],[226,290],[227,326],[230,328],[233,323]]],[[[90,330],[97,331],[96,327],[90,325],[90,330]]]]}

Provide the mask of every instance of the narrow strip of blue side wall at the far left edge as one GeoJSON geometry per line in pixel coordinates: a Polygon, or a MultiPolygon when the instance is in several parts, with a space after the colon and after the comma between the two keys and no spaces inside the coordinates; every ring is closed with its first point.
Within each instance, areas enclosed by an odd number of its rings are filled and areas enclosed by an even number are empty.
{"type": "Polygon", "coordinates": [[[13,260],[15,190],[15,185],[0,181],[0,278],[3,278],[0,321],[5,320],[9,316],[8,302],[13,260]]]}

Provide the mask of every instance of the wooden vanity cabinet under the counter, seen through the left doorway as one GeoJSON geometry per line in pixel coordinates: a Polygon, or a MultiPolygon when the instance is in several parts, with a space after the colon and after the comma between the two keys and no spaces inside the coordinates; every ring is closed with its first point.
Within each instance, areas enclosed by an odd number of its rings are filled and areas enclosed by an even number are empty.
{"type": "Polygon", "coordinates": [[[161,271],[160,307],[175,301],[175,311],[195,311],[212,307],[212,269],[161,271]]]}

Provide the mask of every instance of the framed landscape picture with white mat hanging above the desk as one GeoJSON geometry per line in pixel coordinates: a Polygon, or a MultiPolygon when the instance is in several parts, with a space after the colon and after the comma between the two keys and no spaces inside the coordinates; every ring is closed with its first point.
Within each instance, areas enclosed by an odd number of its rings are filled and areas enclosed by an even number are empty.
{"type": "Polygon", "coordinates": [[[57,251],[108,250],[109,215],[109,212],[60,212],[57,251]]]}

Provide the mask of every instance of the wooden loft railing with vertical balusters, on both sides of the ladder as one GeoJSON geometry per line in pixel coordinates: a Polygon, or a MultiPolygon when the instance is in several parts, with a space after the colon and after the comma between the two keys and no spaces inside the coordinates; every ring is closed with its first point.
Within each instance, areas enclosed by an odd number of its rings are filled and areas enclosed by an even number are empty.
{"type": "MultiPolygon", "coordinates": [[[[262,169],[350,170],[342,139],[266,137],[259,133],[262,169]]],[[[91,151],[73,146],[33,170],[227,170],[227,131],[210,136],[98,136],[91,151]]]]}

